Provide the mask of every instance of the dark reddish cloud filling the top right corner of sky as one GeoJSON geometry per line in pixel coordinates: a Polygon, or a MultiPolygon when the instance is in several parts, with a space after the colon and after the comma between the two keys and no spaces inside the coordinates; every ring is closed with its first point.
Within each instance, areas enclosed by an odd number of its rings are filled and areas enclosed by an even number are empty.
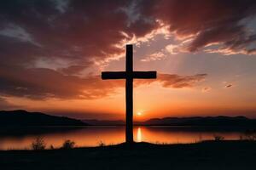
{"type": "Polygon", "coordinates": [[[255,51],[255,48],[247,48],[255,42],[255,34],[245,26],[245,20],[256,14],[253,0],[161,0],[151,13],[170,24],[170,30],[178,36],[194,35],[188,48],[190,52],[217,42],[221,48],[243,50],[246,54],[255,51]]]}

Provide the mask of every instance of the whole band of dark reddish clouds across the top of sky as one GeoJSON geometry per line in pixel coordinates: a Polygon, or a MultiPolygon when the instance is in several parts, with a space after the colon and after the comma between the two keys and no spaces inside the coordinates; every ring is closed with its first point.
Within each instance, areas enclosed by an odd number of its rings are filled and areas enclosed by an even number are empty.
{"type": "Polygon", "coordinates": [[[255,48],[248,46],[256,36],[241,21],[255,13],[254,0],[1,1],[0,61],[29,65],[38,58],[57,57],[90,66],[88,61],[123,51],[114,45],[125,38],[121,31],[143,37],[159,27],[156,20],[178,36],[196,35],[189,44],[192,52],[219,42],[254,54],[255,48]]]}

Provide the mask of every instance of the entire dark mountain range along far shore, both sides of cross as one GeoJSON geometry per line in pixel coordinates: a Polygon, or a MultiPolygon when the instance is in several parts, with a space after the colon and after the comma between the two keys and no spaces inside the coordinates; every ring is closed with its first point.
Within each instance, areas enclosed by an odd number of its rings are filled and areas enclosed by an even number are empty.
{"type": "MultiPolygon", "coordinates": [[[[193,116],[165,117],[149,119],[145,122],[134,122],[143,126],[191,126],[191,127],[256,127],[256,119],[245,116],[193,116]]],[[[40,112],[0,111],[0,127],[29,127],[29,126],[122,126],[124,121],[110,120],[76,120],[64,116],[50,116],[40,112]]]]}

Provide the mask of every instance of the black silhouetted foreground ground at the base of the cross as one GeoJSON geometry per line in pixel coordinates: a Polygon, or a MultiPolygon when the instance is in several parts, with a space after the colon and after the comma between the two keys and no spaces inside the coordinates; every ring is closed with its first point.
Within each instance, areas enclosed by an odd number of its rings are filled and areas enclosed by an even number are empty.
{"type": "Polygon", "coordinates": [[[73,150],[0,151],[0,169],[256,169],[256,142],[125,144],[73,150]]]}

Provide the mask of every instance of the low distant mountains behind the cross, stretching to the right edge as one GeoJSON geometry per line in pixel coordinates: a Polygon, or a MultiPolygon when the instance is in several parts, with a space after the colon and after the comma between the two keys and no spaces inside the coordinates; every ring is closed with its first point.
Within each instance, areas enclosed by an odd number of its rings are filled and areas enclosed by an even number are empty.
{"type": "MultiPolygon", "coordinates": [[[[90,125],[125,125],[124,121],[83,120],[90,125]]],[[[201,127],[256,127],[256,120],[245,116],[193,116],[165,117],[149,119],[145,122],[134,122],[144,126],[201,126],[201,127]]]]}

